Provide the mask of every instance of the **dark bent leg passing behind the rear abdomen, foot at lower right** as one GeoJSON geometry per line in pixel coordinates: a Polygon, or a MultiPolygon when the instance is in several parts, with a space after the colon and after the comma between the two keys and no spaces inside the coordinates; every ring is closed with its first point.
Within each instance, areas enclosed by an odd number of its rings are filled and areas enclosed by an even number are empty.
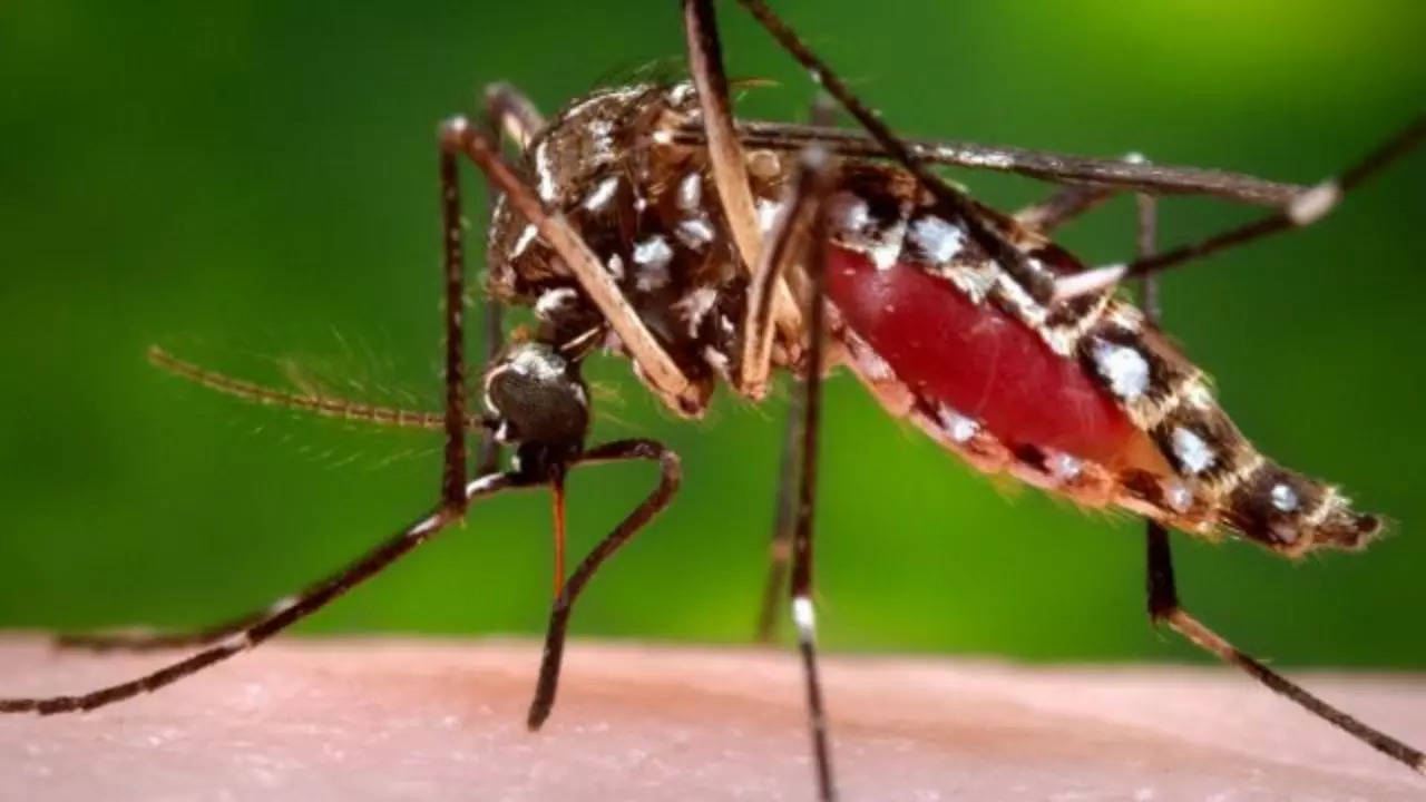
{"type": "MultiPolygon", "coordinates": [[[[1138,196],[1138,253],[1148,257],[1155,250],[1158,231],[1158,217],[1155,200],[1151,196],[1138,196]]],[[[1152,275],[1147,275],[1141,283],[1139,300],[1145,317],[1159,323],[1158,287],[1152,275]]],[[[1154,624],[1168,624],[1171,629],[1186,638],[1195,646],[1216,655],[1226,664],[1236,665],[1246,671],[1256,681],[1262,682],[1273,692],[1296,702],[1312,715],[1342,728],[1353,738],[1378,749],[1387,756],[1397,759],[1412,769],[1426,773],[1426,755],[1407,743],[1375,729],[1352,715],[1313,696],[1301,685],[1272,671],[1253,656],[1239,651],[1216,632],[1205,626],[1184,609],[1178,598],[1178,582],[1174,578],[1174,552],[1169,545],[1168,529],[1155,521],[1145,521],[1145,587],[1148,591],[1148,614],[1154,624]]]]}

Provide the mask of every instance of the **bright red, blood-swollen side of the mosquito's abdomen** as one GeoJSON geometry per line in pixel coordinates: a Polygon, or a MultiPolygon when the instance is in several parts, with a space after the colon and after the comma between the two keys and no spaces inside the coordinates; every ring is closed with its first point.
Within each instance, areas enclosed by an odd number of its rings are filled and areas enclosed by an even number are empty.
{"type": "Polygon", "coordinates": [[[898,263],[877,270],[830,245],[827,294],[897,378],[970,415],[1011,445],[1121,462],[1137,430],[1072,358],[994,304],[973,304],[950,281],[898,263]]]}

